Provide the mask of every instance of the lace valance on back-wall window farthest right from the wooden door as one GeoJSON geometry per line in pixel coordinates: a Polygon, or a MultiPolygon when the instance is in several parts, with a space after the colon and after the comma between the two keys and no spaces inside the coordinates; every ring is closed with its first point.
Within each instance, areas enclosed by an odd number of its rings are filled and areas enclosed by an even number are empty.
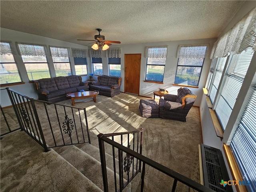
{"type": "Polygon", "coordinates": [[[179,45],[177,58],[205,58],[208,44],[179,45]]]}

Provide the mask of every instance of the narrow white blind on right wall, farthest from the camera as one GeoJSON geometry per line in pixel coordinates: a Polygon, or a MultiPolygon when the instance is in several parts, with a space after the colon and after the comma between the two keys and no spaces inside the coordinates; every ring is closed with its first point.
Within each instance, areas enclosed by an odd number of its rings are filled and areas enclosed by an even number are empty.
{"type": "Polygon", "coordinates": [[[218,90],[218,87],[219,87],[219,84],[220,84],[220,79],[221,79],[221,76],[222,76],[222,73],[223,73],[223,70],[224,70],[224,66],[226,64],[226,60],[227,60],[227,57],[223,57],[223,58],[219,58],[218,59],[218,67],[216,69],[216,74],[215,74],[215,77],[213,79],[213,83],[212,83],[212,89],[211,89],[211,92],[210,92],[210,100],[211,102],[213,103],[214,102],[214,99],[215,99],[215,96],[216,96],[216,93],[217,93],[217,90],[218,90]]]}

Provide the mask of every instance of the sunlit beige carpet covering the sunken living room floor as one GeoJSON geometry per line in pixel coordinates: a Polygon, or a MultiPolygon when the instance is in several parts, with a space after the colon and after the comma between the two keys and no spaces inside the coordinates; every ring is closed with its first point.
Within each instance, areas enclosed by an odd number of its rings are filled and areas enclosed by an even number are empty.
{"type": "MultiPolygon", "coordinates": [[[[89,98],[90,100],[91,98],[89,98]]],[[[201,144],[199,108],[192,107],[187,122],[142,118],[139,101],[147,99],[121,93],[113,98],[97,96],[97,103],[75,104],[76,108],[86,108],[88,127],[92,145],[98,147],[99,133],[139,130],[144,128],[142,154],[164,166],[190,177],[198,144],[201,144]]],[[[71,106],[71,100],[59,102],[71,106]]],[[[48,109],[53,105],[49,105],[48,109]]],[[[37,103],[38,114],[44,116],[44,106],[37,103]],[[42,113],[42,114],[41,114],[42,113]]],[[[54,123],[54,120],[51,120],[54,123]]],[[[57,121],[57,120],[55,120],[57,121]]],[[[46,121],[41,121],[46,127],[46,121]]],[[[1,126],[2,129],[2,126],[1,126]]],[[[2,148],[1,148],[2,151],[2,148]]],[[[146,165],[144,191],[170,191],[172,179],[146,165]]],[[[187,192],[188,187],[178,183],[177,192],[187,192]]]]}

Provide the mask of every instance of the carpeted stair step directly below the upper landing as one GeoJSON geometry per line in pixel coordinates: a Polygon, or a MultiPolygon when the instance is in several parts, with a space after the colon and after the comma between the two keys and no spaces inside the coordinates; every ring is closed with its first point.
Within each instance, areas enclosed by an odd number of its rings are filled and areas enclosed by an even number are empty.
{"type": "MultiPolygon", "coordinates": [[[[90,179],[94,184],[96,184],[101,190],[104,190],[101,163],[84,152],[83,150],[77,148],[76,146],[70,146],[60,154],[64,159],[66,159],[70,164],[72,164],[77,170],[79,170],[84,176],[90,179]]],[[[115,191],[114,186],[114,172],[107,167],[108,175],[108,189],[109,191],[115,191]]],[[[119,175],[116,174],[117,186],[119,188],[119,175]]],[[[124,179],[124,183],[127,182],[124,179]]],[[[131,191],[131,184],[128,184],[123,190],[125,192],[131,191]]]]}

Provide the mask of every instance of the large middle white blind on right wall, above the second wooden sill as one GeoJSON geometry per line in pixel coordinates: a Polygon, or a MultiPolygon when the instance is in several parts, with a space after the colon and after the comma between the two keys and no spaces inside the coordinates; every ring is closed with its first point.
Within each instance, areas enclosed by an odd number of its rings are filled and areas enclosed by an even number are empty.
{"type": "Polygon", "coordinates": [[[229,61],[224,86],[215,109],[223,130],[226,129],[228,124],[236,98],[252,60],[253,52],[252,48],[248,48],[248,50],[243,51],[241,54],[233,55],[229,61]]]}

